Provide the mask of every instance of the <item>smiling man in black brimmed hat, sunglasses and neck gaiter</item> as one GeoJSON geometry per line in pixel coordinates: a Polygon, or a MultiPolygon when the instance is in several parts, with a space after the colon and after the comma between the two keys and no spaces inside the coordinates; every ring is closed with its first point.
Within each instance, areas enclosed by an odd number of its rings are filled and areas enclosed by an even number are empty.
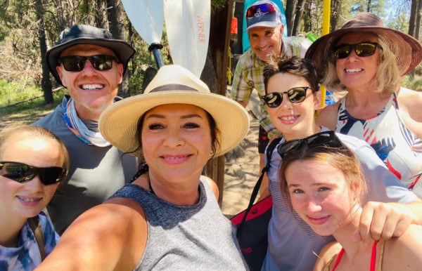
{"type": "Polygon", "coordinates": [[[47,206],[59,234],[136,173],[136,159],[122,155],[98,131],[100,114],[121,99],[118,86],[134,53],[126,41],[89,25],[65,29],[46,53],[51,74],[69,92],[51,114],[33,124],[58,135],[70,154],[70,177],[47,206]]]}

